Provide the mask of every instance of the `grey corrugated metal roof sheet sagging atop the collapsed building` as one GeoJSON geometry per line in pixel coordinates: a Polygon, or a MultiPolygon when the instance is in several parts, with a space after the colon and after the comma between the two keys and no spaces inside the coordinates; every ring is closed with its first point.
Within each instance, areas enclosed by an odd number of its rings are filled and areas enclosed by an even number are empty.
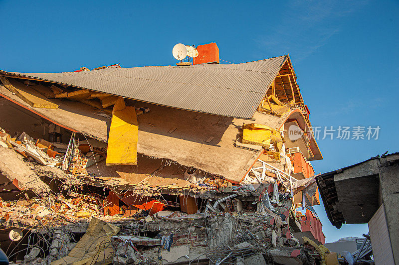
{"type": "Polygon", "coordinates": [[[240,64],[15,73],[184,110],[250,119],[287,56],[240,64]]]}

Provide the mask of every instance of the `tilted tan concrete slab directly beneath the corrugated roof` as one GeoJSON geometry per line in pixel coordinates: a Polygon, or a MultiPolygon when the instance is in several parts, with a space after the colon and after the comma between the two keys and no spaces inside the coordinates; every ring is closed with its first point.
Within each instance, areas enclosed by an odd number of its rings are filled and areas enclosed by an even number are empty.
{"type": "MultiPolygon", "coordinates": [[[[72,132],[83,133],[104,142],[108,139],[110,120],[93,114],[96,110],[81,102],[54,99],[58,109],[32,108],[4,86],[0,95],[44,119],[72,132]]],[[[137,150],[157,158],[166,158],[185,166],[193,166],[238,183],[242,180],[261,151],[234,146],[239,128],[246,120],[178,110],[144,102],[132,102],[135,107],[150,108],[140,115],[137,150]],[[171,129],[176,128],[171,133],[171,129]],[[209,142],[206,142],[210,139],[209,142]]],[[[280,127],[289,116],[255,113],[258,124],[280,127]]]]}

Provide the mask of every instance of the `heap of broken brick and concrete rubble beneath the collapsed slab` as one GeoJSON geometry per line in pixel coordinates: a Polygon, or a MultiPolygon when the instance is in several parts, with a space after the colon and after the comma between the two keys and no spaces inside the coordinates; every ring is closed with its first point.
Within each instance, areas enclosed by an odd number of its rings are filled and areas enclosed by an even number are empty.
{"type": "MultiPolygon", "coordinates": [[[[314,254],[290,233],[290,194],[279,191],[274,182],[232,186],[187,168],[186,179],[196,187],[191,190],[198,199],[175,195],[173,202],[170,194],[140,197],[109,188],[100,195],[94,192],[98,187],[87,184],[93,175],[77,168],[84,169],[89,156],[100,160],[106,149],[84,146],[72,138],[69,145],[76,142],[76,146],[68,152],[27,133],[17,137],[1,133],[2,148],[14,149],[38,181],[51,186],[32,194],[20,187],[26,186],[23,180],[16,179],[19,198],[0,200],[1,226],[21,237],[12,244],[25,253],[23,260],[17,258],[21,254],[9,253],[16,264],[69,264],[76,259],[87,260],[82,264],[94,260],[105,264],[314,261],[314,254]],[[18,242],[27,242],[23,244],[27,247],[18,242]]],[[[1,170],[6,173],[4,167],[1,170]]]]}

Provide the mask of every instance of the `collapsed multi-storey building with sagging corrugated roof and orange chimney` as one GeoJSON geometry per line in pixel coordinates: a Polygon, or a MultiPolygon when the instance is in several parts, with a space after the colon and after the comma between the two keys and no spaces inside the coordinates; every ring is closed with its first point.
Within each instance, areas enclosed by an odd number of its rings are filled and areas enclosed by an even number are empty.
{"type": "Polygon", "coordinates": [[[220,65],[216,44],[206,45],[194,65],[0,71],[1,249],[10,261],[337,256],[320,246],[310,161],[323,157],[289,56],[220,65]]]}

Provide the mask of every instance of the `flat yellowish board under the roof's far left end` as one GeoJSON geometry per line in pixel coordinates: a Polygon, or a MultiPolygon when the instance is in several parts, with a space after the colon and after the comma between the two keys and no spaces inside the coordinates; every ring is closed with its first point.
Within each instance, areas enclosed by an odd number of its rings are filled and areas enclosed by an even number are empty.
{"type": "Polygon", "coordinates": [[[43,109],[58,109],[57,104],[52,103],[36,90],[25,86],[23,83],[13,79],[8,80],[3,76],[0,76],[0,80],[9,91],[14,93],[30,106],[43,109]]]}

